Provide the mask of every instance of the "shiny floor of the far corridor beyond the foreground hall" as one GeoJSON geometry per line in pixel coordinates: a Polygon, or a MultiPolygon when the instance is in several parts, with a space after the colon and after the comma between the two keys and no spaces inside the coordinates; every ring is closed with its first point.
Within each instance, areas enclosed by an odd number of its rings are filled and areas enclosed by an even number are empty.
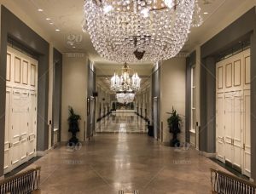
{"type": "Polygon", "coordinates": [[[97,133],[147,133],[143,118],[135,113],[114,113],[96,123],[97,133]]]}

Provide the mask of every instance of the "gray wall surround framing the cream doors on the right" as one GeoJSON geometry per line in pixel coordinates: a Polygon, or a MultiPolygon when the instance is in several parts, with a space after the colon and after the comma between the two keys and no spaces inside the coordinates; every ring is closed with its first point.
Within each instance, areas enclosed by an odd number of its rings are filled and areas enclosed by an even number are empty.
{"type": "Polygon", "coordinates": [[[256,14],[255,7],[201,46],[201,129],[200,150],[215,152],[215,64],[225,49],[247,38],[251,41],[251,164],[256,180],[256,14]]]}

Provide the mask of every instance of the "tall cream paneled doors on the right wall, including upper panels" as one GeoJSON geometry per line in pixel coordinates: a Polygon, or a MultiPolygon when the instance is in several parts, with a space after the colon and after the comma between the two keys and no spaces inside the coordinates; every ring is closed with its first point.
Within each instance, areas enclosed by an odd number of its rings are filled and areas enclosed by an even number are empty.
{"type": "Polygon", "coordinates": [[[250,50],[218,62],[216,77],[216,157],[250,177],[250,50]]]}

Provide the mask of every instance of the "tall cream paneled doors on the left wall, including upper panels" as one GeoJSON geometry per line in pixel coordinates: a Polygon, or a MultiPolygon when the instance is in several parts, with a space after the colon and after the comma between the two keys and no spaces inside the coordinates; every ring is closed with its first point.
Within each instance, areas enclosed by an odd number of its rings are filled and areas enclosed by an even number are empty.
{"type": "Polygon", "coordinates": [[[4,174],[36,156],[38,61],[8,48],[4,174]]]}

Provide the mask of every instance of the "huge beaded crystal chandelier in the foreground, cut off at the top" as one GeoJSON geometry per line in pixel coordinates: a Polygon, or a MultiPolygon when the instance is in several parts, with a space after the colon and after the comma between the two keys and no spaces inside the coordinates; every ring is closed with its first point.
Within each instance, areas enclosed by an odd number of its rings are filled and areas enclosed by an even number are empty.
{"type": "Polygon", "coordinates": [[[170,59],[188,37],[195,1],[86,0],[83,30],[108,60],[170,59]]]}

